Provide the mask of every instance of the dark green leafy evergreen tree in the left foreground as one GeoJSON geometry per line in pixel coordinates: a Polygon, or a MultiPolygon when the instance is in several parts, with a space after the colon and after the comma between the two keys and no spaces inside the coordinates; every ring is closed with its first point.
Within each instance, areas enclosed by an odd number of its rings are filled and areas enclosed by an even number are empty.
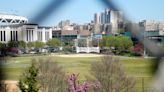
{"type": "Polygon", "coordinates": [[[23,73],[18,82],[18,87],[22,92],[38,92],[39,82],[37,80],[38,68],[35,66],[35,60],[31,66],[23,73]]]}

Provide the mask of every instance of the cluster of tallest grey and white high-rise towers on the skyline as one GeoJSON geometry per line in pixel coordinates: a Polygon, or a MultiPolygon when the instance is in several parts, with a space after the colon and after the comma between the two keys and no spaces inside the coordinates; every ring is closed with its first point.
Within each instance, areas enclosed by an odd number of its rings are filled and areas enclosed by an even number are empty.
{"type": "MultiPolygon", "coordinates": [[[[94,21],[95,25],[110,25],[110,28],[103,29],[107,29],[106,31],[108,31],[108,33],[117,34],[117,30],[119,29],[118,25],[123,22],[122,12],[112,9],[105,9],[104,12],[95,14],[94,21]]],[[[95,30],[96,29],[98,29],[98,27],[95,28],[95,30]]]]}

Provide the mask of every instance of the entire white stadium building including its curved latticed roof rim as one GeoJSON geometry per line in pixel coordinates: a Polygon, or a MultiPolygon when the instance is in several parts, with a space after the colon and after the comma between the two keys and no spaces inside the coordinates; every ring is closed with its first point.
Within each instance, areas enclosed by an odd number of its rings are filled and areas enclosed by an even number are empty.
{"type": "Polygon", "coordinates": [[[0,42],[25,41],[46,42],[52,38],[51,27],[41,27],[37,24],[28,24],[28,19],[15,16],[0,14],[0,42]]]}

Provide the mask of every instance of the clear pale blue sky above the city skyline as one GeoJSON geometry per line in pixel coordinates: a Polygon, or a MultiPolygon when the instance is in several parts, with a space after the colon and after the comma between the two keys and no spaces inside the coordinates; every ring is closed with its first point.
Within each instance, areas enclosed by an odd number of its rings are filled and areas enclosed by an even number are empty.
{"type": "MultiPolygon", "coordinates": [[[[2,0],[0,13],[16,14],[27,17],[30,21],[35,18],[53,0],[2,0]]],[[[61,20],[69,19],[72,23],[89,23],[94,13],[103,12],[107,6],[101,0],[62,0],[55,11],[45,13],[40,25],[54,26],[61,20]]],[[[147,19],[164,21],[164,0],[111,0],[128,19],[135,22],[147,19]]],[[[56,5],[57,6],[57,5],[56,5]]]]}

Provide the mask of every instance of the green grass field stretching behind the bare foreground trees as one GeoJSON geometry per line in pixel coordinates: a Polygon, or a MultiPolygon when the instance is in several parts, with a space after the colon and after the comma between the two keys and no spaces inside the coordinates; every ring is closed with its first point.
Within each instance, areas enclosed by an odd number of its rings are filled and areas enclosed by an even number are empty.
{"type": "MultiPolygon", "coordinates": [[[[26,57],[10,57],[8,62],[4,64],[1,69],[7,73],[7,80],[18,80],[20,74],[30,65],[33,58],[51,58],[61,65],[68,74],[79,73],[80,79],[84,80],[85,76],[92,76],[90,74],[90,65],[92,62],[100,61],[101,57],[60,57],[60,56],[26,56],[26,57]]],[[[137,85],[141,86],[142,78],[145,79],[145,85],[151,82],[152,67],[154,61],[142,57],[117,57],[125,69],[128,76],[133,76],[137,80],[137,85]]]]}

